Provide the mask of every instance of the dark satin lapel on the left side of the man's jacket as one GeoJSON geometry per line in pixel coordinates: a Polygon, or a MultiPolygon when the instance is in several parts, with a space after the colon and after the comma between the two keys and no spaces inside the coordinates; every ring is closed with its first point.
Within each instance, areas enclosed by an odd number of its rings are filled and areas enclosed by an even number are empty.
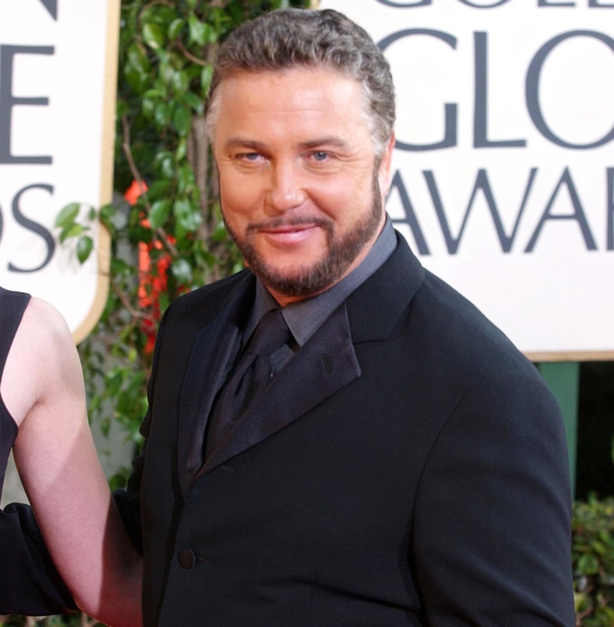
{"type": "Polygon", "coordinates": [[[236,336],[245,326],[253,303],[255,280],[249,275],[231,293],[220,314],[194,340],[179,397],[177,463],[184,499],[203,464],[204,432],[221,385],[236,336]]]}

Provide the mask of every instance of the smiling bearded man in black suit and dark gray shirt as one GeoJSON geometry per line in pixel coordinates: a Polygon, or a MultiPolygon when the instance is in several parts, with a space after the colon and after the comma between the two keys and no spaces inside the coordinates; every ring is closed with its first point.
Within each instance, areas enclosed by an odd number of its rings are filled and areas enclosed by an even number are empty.
{"type": "Polygon", "coordinates": [[[339,13],[220,48],[208,128],[250,269],[161,325],[122,507],[144,624],[574,624],[556,403],[394,233],[393,122],[339,13]]]}

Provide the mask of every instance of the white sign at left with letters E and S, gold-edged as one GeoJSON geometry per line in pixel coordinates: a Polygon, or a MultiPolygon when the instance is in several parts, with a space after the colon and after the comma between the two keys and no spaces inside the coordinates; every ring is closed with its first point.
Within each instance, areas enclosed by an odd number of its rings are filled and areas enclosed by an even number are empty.
{"type": "Polygon", "coordinates": [[[109,238],[79,265],[53,224],[111,197],[119,0],[0,1],[0,284],[53,303],[76,339],[108,285],[109,238]]]}

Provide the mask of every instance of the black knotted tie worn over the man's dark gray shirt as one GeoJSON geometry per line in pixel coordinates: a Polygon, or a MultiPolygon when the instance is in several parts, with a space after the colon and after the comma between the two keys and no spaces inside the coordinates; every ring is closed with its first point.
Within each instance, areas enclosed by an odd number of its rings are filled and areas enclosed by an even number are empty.
{"type": "Polygon", "coordinates": [[[273,377],[271,356],[290,340],[290,330],[281,309],[262,317],[211,412],[205,459],[217,448],[251,401],[273,377]]]}

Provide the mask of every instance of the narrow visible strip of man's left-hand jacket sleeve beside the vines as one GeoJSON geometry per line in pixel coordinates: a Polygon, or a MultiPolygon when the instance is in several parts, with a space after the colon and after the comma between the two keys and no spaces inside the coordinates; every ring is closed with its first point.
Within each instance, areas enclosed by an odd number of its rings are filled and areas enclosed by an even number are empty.
{"type": "Polygon", "coordinates": [[[140,435],[142,435],[145,440],[140,454],[132,460],[132,473],[130,474],[127,488],[125,490],[115,490],[113,494],[115,504],[119,509],[126,532],[129,535],[132,544],[134,544],[134,547],[137,551],[139,551],[140,555],[143,554],[143,535],[140,520],[140,483],[147,449],[147,436],[149,435],[149,429],[151,428],[152,401],[154,398],[154,386],[156,384],[156,371],[160,347],[162,345],[164,325],[171,311],[172,305],[173,303],[171,303],[171,305],[167,307],[166,312],[164,312],[164,316],[162,316],[156,336],[156,347],[154,349],[151,377],[149,377],[149,381],[147,382],[147,413],[145,414],[139,429],[140,435]]]}

